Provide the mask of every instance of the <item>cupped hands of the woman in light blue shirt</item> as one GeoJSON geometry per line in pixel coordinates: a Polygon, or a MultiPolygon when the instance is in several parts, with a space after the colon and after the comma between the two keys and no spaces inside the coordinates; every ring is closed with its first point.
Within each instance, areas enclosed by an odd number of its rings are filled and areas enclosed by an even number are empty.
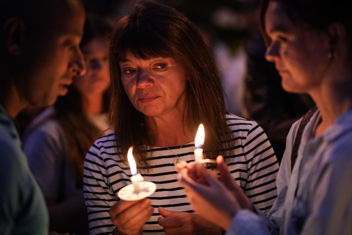
{"type": "Polygon", "coordinates": [[[254,211],[249,198],[228,172],[222,156],[216,159],[220,181],[214,179],[205,167],[178,167],[180,184],[187,190],[187,197],[194,210],[208,221],[227,229],[240,209],[254,211]]]}

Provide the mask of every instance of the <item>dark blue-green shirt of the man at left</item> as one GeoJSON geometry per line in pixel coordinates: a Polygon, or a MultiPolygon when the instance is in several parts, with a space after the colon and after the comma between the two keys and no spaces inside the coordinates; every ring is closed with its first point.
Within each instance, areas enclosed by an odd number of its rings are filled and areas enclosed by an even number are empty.
{"type": "Polygon", "coordinates": [[[15,125],[0,105],[0,234],[48,234],[44,197],[29,170],[15,125]]]}

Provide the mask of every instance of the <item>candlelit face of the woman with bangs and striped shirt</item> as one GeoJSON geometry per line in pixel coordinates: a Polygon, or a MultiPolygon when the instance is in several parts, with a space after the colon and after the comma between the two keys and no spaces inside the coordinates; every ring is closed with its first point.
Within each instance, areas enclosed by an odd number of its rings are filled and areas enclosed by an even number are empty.
{"type": "Polygon", "coordinates": [[[186,73],[172,58],[143,60],[131,54],[120,62],[121,81],[133,106],[146,116],[164,116],[183,110],[186,73]]]}

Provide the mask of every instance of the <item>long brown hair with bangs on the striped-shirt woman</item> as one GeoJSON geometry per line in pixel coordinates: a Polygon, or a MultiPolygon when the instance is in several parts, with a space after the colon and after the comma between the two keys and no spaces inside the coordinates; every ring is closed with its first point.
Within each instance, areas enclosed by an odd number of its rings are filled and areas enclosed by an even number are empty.
{"type": "Polygon", "coordinates": [[[121,82],[120,61],[126,53],[137,58],[172,57],[186,70],[187,101],[191,131],[200,123],[206,128],[203,148],[208,158],[225,155],[225,148],[233,144],[232,132],[226,124],[226,110],[218,69],[212,54],[197,27],[174,8],[140,1],[134,11],[119,20],[111,38],[109,55],[111,77],[110,117],[117,139],[117,152],[126,160],[130,146],[134,146],[137,165],[148,169],[150,161],[147,145],[153,138],[143,113],[132,105],[121,82]]]}

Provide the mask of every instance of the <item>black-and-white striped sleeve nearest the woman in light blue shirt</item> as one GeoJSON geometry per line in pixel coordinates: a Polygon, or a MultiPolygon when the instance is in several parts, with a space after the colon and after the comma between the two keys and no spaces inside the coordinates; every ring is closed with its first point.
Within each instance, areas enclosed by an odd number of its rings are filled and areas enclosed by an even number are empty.
{"type": "Polygon", "coordinates": [[[247,162],[244,190],[251,202],[268,214],[277,197],[278,162],[264,130],[253,122],[243,141],[247,162]]]}

